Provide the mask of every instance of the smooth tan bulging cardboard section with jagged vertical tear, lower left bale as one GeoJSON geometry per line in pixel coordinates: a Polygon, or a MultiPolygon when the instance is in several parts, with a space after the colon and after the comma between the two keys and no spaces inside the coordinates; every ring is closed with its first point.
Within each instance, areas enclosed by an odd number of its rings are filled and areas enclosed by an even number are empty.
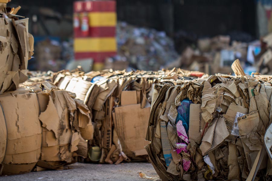
{"type": "Polygon", "coordinates": [[[39,103],[34,93],[0,96],[8,130],[7,148],[2,162],[2,175],[30,172],[41,151],[39,103]]]}

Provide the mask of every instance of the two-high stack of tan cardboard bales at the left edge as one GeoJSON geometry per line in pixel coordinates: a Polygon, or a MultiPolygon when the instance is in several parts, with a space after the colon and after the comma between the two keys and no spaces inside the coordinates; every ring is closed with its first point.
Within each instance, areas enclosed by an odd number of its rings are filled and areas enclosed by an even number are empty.
{"type": "Polygon", "coordinates": [[[91,122],[74,94],[49,82],[24,83],[34,42],[28,19],[18,20],[19,9],[0,3],[0,175],[62,169],[86,157],[78,124],[91,122]]]}

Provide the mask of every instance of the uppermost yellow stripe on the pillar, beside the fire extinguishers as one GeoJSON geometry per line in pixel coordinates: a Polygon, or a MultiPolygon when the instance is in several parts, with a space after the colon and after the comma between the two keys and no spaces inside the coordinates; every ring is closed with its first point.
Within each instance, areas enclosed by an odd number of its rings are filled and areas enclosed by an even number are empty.
{"type": "Polygon", "coordinates": [[[90,27],[108,27],[116,26],[115,12],[91,12],[89,16],[90,27]]]}

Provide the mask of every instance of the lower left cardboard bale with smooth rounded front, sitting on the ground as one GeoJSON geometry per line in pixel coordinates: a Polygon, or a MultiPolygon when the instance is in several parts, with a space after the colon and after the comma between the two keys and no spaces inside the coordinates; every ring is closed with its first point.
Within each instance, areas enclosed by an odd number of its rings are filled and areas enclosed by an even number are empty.
{"type": "MultiPolygon", "coordinates": [[[[0,175],[59,170],[87,157],[80,129],[90,125],[93,130],[93,126],[89,109],[74,94],[50,82],[21,84],[2,94],[0,104],[0,175]]],[[[92,138],[92,134],[84,136],[92,138]]]]}

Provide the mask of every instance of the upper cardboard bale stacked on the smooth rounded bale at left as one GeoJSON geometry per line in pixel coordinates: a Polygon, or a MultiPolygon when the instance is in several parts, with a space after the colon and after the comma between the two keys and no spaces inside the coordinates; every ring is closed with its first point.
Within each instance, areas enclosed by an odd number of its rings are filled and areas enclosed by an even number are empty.
{"type": "Polygon", "coordinates": [[[28,18],[16,15],[20,8],[6,8],[6,3],[0,3],[0,94],[15,90],[28,79],[26,69],[34,38],[28,33],[28,18]]]}

